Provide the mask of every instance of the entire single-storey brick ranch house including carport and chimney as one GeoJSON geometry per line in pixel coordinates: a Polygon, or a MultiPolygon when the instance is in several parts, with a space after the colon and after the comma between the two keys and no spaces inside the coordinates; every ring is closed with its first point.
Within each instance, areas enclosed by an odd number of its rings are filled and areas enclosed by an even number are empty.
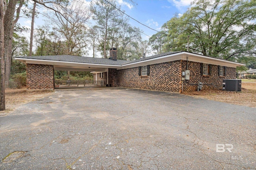
{"type": "Polygon", "coordinates": [[[70,55],[16,57],[26,64],[27,90],[53,90],[54,70],[91,71],[104,85],[168,92],[222,89],[223,79],[236,79],[236,67],[245,64],[186,51],[167,52],[135,61],[70,55]]]}

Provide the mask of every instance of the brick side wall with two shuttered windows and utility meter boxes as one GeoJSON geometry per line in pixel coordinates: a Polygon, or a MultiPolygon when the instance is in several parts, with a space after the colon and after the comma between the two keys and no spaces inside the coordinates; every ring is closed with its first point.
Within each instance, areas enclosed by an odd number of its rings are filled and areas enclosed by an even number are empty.
{"type": "MultiPolygon", "coordinates": [[[[186,70],[187,61],[182,61],[182,71],[186,70]]],[[[212,74],[210,76],[201,76],[201,65],[197,62],[188,61],[188,70],[190,70],[190,80],[184,80],[184,91],[197,90],[198,81],[203,83],[204,89],[222,89],[223,79],[236,79],[236,68],[226,67],[227,74],[224,77],[218,76],[218,65],[212,65],[212,74]]]]}

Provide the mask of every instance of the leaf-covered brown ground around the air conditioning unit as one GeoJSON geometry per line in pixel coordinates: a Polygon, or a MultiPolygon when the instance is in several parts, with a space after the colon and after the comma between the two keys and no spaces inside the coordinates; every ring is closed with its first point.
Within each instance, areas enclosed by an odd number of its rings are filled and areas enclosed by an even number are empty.
{"type": "Polygon", "coordinates": [[[195,98],[205,98],[230,104],[256,107],[256,83],[242,82],[242,92],[223,90],[202,90],[200,92],[184,92],[195,98]]]}

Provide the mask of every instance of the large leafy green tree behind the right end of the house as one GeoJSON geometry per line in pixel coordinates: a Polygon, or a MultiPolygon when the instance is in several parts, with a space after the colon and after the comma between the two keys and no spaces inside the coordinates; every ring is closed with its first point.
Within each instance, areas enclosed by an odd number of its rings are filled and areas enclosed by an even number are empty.
{"type": "Polygon", "coordinates": [[[174,16],[164,28],[164,51],[189,51],[236,61],[255,56],[255,0],[198,0],[182,16],[174,16]]]}

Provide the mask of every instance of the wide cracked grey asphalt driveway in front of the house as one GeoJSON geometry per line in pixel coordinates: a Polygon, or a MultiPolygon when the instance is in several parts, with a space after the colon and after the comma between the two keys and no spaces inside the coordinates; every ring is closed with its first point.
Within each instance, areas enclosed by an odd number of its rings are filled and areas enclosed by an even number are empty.
{"type": "Polygon", "coordinates": [[[256,108],[124,88],[56,91],[0,117],[0,159],[0,169],[256,169],[256,108]]]}

